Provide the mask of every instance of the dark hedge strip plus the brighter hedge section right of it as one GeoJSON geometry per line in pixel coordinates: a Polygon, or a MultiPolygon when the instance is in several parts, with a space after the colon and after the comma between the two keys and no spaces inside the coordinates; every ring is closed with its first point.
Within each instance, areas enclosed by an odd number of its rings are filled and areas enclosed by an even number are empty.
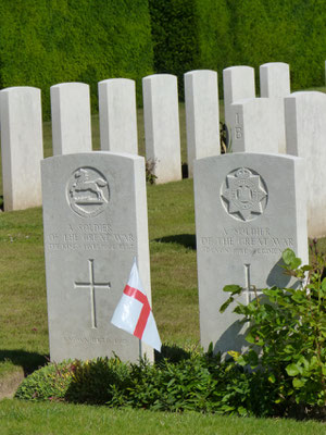
{"type": "MultiPolygon", "coordinates": [[[[156,72],[290,65],[292,89],[325,83],[322,0],[149,0],[156,72]]],[[[220,91],[222,96],[222,92],[220,91]]]]}

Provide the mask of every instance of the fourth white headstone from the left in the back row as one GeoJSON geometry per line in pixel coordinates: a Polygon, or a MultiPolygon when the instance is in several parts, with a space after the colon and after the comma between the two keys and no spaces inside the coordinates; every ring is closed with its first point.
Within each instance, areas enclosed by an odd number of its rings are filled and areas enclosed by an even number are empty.
{"type": "Polygon", "coordinates": [[[177,77],[142,78],[146,159],[154,164],[155,183],[181,179],[177,77]]]}

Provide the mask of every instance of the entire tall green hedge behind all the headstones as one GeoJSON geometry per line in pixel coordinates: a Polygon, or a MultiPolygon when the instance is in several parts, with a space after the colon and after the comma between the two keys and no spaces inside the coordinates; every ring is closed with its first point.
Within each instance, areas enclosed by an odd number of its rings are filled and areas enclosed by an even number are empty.
{"type": "MultiPolygon", "coordinates": [[[[50,86],[97,84],[153,72],[218,72],[231,65],[290,64],[292,90],[325,83],[323,0],[2,0],[0,88],[36,86],[45,117],[50,86]]],[[[222,89],[220,91],[222,96],[222,89]]]]}

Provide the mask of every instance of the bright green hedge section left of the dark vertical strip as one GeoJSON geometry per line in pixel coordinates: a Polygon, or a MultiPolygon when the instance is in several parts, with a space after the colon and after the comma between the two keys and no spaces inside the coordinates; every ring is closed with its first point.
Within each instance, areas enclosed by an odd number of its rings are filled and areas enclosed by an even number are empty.
{"type": "Polygon", "coordinates": [[[0,87],[42,90],[49,117],[50,86],[90,85],[97,110],[97,84],[153,73],[147,0],[2,0],[0,2],[0,87]]]}

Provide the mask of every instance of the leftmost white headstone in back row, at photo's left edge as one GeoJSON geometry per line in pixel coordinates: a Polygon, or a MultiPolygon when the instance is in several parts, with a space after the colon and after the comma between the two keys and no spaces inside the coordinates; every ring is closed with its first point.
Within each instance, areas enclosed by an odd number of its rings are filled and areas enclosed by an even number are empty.
{"type": "Polygon", "coordinates": [[[1,90],[1,156],[4,211],[41,204],[43,158],[40,89],[1,90]]]}

